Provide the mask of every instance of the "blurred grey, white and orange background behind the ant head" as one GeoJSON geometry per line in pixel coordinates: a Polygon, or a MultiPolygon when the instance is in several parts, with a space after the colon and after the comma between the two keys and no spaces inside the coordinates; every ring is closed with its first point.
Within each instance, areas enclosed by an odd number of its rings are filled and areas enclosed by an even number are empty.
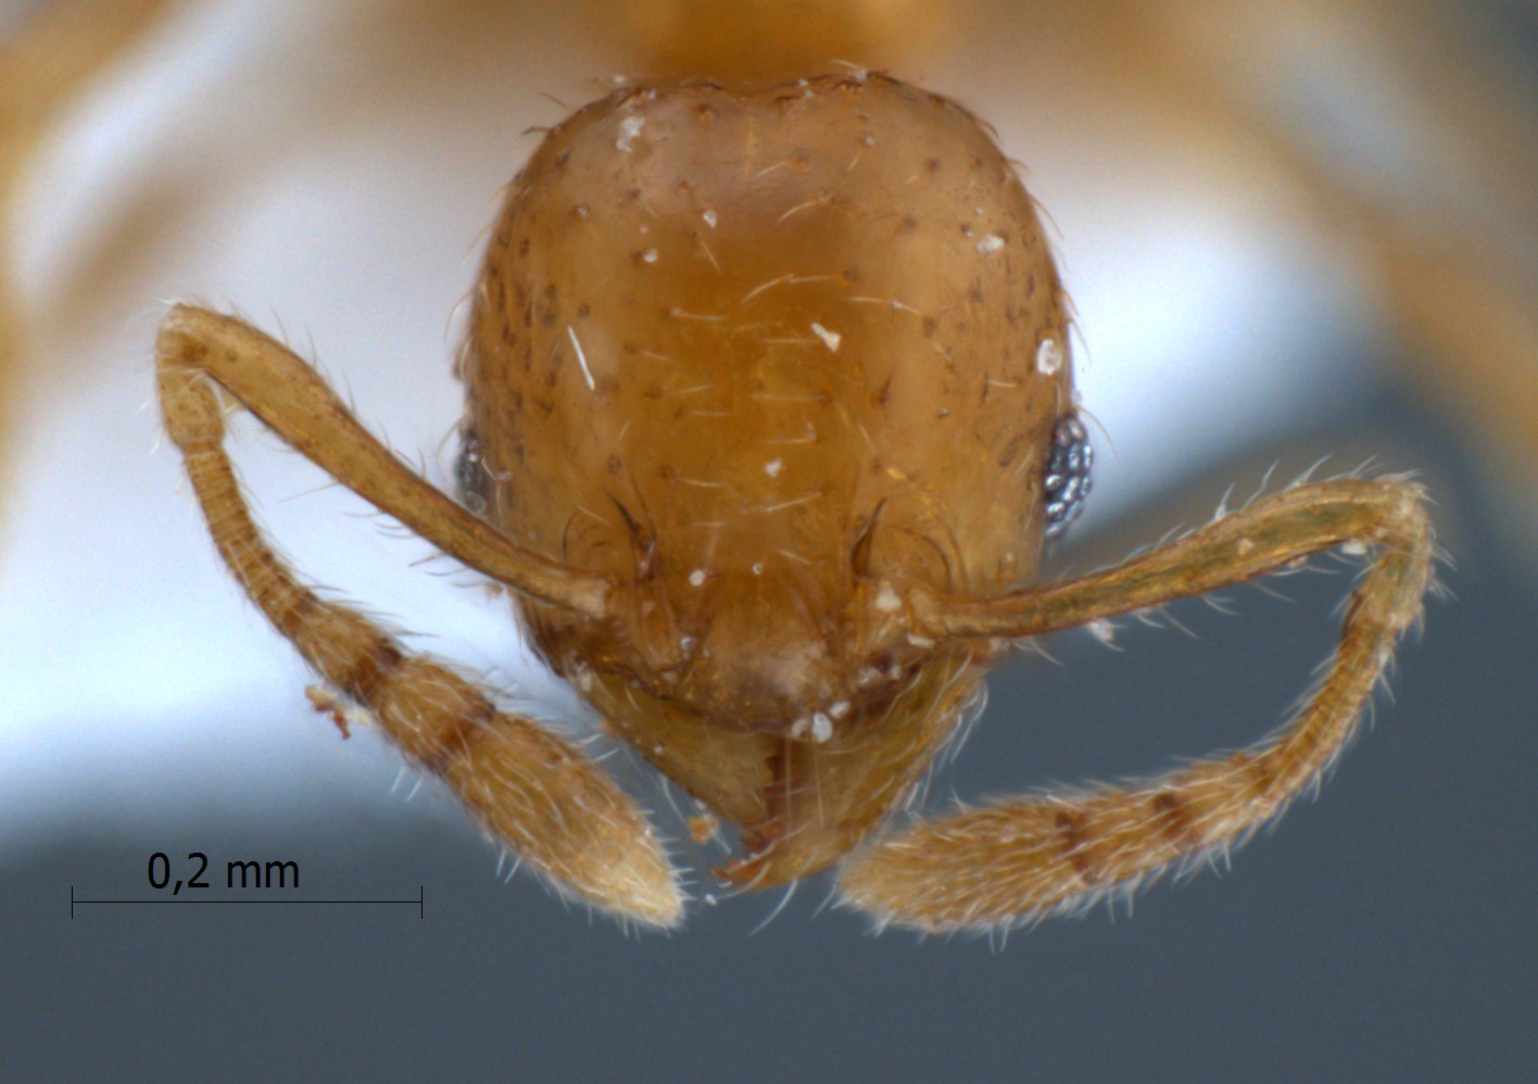
{"type": "MultiPolygon", "coordinates": [[[[0,5],[0,1066],[420,1076],[1520,1079],[1538,1073],[1538,15],[1520,0],[12,0],[0,5]],[[1416,469],[1455,567],[1321,800],[1232,872],[1010,938],[866,936],[814,881],[626,939],[566,913],[368,729],[349,741],[157,447],[168,300],[283,334],[443,483],[480,232],[526,129],[614,77],[887,69],[998,129],[1078,315],[1098,477],[1052,575],[1224,492],[1416,469]],[[292,860],[306,899],[154,899],[292,860]],[[86,1041],[82,1036],[89,1036],[86,1041]],[[240,1050],[243,1056],[229,1058],[240,1050]]],[[[237,420],[312,580],[552,726],[489,595],[237,420]]],[[[1232,503],[1232,501],[1230,501],[1232,503]]],[[[1046,643],[932,787],[1144,775],[1284,718],[1349,577],[1195,633],[1046,643]]],[[[683,798],[609,761],[681,835],[683,798]]],[[[684,812],[689,812],[684,809],[684,812]]],[[[683,855],[706,870],[720,852],[683,855]]],[[[714,890],[707,873],[697,892],[714,890]]],[[[292,893],[291,893],[292,895],[292,893]]],[[[217,887],[201,898],[251,898],[217,887]]]]}

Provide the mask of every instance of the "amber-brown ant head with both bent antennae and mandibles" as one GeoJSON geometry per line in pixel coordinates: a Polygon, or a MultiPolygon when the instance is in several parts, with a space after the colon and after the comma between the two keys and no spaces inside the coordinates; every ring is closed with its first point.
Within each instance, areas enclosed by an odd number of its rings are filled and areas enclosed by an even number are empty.
{"type": "Polygon", "coordinates": [[[1037,584],[1090,487],[1058,272],[984,126],[878,75],[624,88],[548,134],[472,294],[458,500],[232,317],[175,306],[157,357],[209,530],[271,623],[529,869],[644,926],[684,915],[646,815],[577,746],[303,586],[249,515],[226,400],[504,584],[604,727],[738,827],[717,876],[835,867],[883,926],[1009,927],[1244,838],[1343,747],[1430,583],[1421,490],[1344,478],[1037,584]],[[1269,744],[895,816],[1010,641],[1329,549],[1370,564],[1269,744]]]}

